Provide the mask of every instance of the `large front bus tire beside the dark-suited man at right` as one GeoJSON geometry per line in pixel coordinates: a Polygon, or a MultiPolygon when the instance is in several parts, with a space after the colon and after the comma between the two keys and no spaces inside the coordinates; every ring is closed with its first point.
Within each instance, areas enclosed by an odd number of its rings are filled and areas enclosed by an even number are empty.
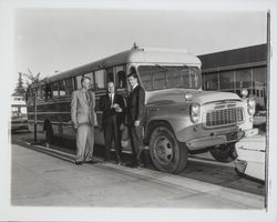
{"type": "Polygon", "coordinates": [[[166,123],[154,128],[150,138],[150,154],[155,169],[166,173],[177,174],[187,163],[187,148],[177,141],[166,123]]]}

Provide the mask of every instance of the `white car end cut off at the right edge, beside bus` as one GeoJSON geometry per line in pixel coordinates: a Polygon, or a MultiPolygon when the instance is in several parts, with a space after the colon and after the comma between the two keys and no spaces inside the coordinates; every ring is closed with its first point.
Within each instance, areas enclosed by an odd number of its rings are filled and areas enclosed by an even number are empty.
{"type": "Polygon", "coordinates": [[[265,134],[243,138],[235,144],[237,159],[234,161],[238,173],[265,181],[265,134]]]}

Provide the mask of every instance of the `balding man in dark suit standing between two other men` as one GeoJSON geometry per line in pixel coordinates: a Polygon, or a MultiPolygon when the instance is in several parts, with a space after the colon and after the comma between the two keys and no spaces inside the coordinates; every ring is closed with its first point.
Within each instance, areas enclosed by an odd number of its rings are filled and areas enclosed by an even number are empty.
{"type": "Polygon", "coordinates": [[[102,129],[105,139],[105,161],[111,161],[112,141],[115,145],[115,159],[122,164],[121,137],[124,129],[125,103],[121,95],[115,93],[113,82],[107,83],[107,93],[100,98],[100,110],[103,111],[102,129]]]}

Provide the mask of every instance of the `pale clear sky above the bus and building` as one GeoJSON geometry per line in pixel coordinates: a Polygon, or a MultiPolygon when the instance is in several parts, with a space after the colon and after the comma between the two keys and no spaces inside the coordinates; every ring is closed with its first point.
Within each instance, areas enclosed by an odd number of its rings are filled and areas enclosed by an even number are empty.
{"type": "Polygon", "coordinates": [[[21,8],[14,14],[16,72],[52,75],[134,42],[196,56],[255,46],[266,43],[266,11],[21,8]]]}

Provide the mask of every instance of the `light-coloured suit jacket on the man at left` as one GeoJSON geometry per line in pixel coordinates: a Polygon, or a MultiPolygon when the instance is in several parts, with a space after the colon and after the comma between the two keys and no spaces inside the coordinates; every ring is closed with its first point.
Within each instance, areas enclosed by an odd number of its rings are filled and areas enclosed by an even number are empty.
{"type": "Polygon", "coordinates": [[[85,90],[79,89],[72,93],[71,100],[71,121],[74,125],[98,124],[94,92],[89,90],[90,101],[86,100],[85,90]]]}

